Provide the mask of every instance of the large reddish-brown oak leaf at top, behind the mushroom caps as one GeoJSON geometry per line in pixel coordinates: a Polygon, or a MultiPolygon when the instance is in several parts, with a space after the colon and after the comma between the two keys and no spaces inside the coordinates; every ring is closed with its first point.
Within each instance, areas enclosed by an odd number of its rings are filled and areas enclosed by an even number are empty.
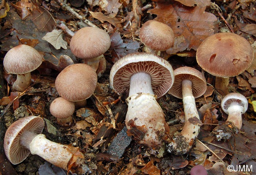
{"type": "Polygon", "coordinates": [[[157,7],[149,10],[155,14],[155,20],[169,25],[174,32],[175,40],[167,53],[173,54],[184,50],[197,50],[208,36],[214,34],[214,22],[217,17],[205,12],[206,7],[187,7],[180,3],[158,3],[157,7]]]}

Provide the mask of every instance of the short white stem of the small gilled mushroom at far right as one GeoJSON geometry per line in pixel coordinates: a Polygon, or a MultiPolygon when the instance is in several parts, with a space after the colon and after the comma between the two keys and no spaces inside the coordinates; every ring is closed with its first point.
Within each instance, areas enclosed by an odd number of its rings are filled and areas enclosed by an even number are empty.
{"type": "Polygon", "coordinates": [[[234,125],[240,130],[242,127],[242,111],[243,107],[240,106],[237,102],[232,102],[230,107],[227,109],[229,116],[227,117],[226,122],[233,122],[234,125]]]}

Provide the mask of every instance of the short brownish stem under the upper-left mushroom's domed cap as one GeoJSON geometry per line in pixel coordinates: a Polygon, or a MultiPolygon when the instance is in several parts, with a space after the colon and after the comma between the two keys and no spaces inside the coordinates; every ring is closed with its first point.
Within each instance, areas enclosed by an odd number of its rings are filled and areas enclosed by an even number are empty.
{"type": "Polygon", "coordinates": [[[30,86],[30,84],[31,84],[30,72],[25,74],[17,74],[17,79],[12,85],[12,90],[23,92],[30,86]]]}

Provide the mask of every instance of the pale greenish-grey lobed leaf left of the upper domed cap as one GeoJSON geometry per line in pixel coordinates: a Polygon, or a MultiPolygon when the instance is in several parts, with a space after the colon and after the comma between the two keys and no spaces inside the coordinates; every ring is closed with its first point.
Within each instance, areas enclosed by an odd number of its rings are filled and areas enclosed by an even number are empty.
{"type": "Polygon", "coordinates": [[[46,35],[42,37],[42,39],[52,44],[55,49],[60,49],[60,47],[67,49],[68,43],[63,40],[62,34],[63,31],[61,29],[54,29],[52,32],[46,33],[46,35]]]}

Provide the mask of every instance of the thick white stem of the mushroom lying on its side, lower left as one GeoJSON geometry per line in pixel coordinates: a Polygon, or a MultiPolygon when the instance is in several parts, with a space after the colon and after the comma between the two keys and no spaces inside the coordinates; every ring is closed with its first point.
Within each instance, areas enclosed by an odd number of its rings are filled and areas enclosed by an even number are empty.
{"type": "Polygon", "coordinates": [[[30,131],[22,133],[20,144],[28,148],[31,154],[39,155],[64,170],[75,170],[75,174],[84,174],[88,171],[87,165],[83,162],[84,156],[78,147],[55,143],[46,139],[44,134],[37,135],[30,131]]]}

